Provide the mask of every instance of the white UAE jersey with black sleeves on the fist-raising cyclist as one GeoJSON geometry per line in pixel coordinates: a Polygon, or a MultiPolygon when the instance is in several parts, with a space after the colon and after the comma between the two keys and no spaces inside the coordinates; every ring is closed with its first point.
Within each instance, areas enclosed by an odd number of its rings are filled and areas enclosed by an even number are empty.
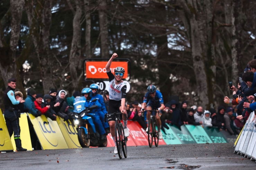
{"type": "Polygon", "coordinates": [[[122,81],[116,85],[115,76],[111,73],[111,70],[107,74],[109,78],[109,99],[119,101],[122,98],[126,98],[126,83],[122,81]]]}

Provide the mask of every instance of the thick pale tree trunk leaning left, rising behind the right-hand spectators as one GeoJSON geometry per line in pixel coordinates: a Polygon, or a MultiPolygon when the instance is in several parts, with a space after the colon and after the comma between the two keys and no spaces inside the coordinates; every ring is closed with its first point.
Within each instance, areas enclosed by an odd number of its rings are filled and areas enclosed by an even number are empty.
{"type": "Polygon", "coordinates": [[[200,42],[200,31],[198,27],[198,22],[196,21],[195,11],[191,10],[193,7],[192,1],[186,2],[181,0],[180,4],[184,10],[184,15],[181,16],[185,23],[189,23],[189,28],[186,28],[188,35],[190,36],[191,51],[193,57],[193,68],[195,72],[196,84],[198,86],[199,104],[202,104],[204,108],[209,106],[209,94],[208,94],[208,84],[207,75],[204,66],[204,58],[202,56],[203,51],[200,42]]]}

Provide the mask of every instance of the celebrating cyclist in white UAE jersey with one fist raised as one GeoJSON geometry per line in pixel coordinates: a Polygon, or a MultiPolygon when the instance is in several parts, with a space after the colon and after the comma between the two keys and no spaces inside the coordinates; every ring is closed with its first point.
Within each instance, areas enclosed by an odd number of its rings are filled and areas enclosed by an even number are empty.
{"type": "MultiPolygon", "coordinates": [[[[122,67],[117,67],[115,68],[115,75],[111,73],[110,66],[111,62],[113,59],[117,58],[117,53],[114,53],[112,57],[109,59],[107,65],[106,65],[106,70],[107,74],[109,77],[109,104],[108,104],[108,114],[112,114],[114,112],[119,112],[121,111],[122,118],[124,121],[124,131],[125,131],[125,137],[129,136],[129,130],[127,128],[127,119],[124,114],[127,116],[126,112],[126,83],[122,80],[122,77],[124,77],[125,74],[125,69],[122,67]]],[[[114,115],[109,115],[108,116],[108,123],[110,126],[110,133],[115,141],[115,116],[114,115]]],[[[116,145],[116,142],[115,142],[116,145]]],[[[117,154],[117,146],[115,147],[115,154],[117,154]]]]}

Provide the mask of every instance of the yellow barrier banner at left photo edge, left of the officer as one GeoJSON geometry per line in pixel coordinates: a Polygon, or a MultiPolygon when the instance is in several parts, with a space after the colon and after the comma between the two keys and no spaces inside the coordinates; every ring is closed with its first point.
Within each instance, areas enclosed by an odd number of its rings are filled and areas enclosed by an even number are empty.
{"type": "Polygon", "coordinates": [[[0,109],[0,151],[13,150],[11,144],[11,138],[9,136],[8,129],[6,127],[6,123],[3,119],[3,113],[0,109]]]}

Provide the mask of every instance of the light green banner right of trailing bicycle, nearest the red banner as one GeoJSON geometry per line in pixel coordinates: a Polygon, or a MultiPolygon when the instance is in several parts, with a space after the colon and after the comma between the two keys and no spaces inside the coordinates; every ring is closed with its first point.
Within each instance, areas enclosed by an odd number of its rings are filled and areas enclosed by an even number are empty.
{"type": "Polygon", "coordinates": [[[162,131],[163,133],[163,140],[165,141],[166,144],[182,144],[182,142],[179,140],[177,135],[173,132],[171,127],[167,124],[169,129],[164,128],[165,132],[162,131]]]}

